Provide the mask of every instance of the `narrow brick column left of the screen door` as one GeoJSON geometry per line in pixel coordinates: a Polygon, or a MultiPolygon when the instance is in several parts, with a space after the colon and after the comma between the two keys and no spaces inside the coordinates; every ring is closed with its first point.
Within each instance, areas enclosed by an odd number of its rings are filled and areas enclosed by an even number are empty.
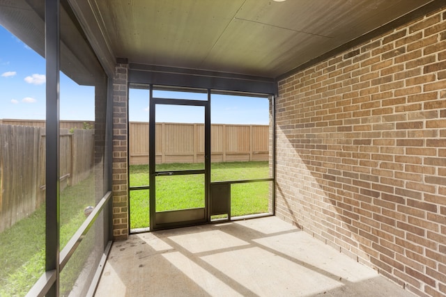
{"type": "Polygon", "coordinates": [[[113,79],[113,239],[125,240],[128,220],[128,63],[118,61],[113,79]]]}

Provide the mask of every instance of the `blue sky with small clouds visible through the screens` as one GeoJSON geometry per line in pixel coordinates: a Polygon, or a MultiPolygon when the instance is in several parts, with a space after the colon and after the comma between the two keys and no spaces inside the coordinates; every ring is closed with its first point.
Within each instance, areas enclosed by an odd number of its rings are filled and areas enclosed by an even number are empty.
{"type": "MultiPolygon", "coordinates": [[[[45,59],[0,26],[0,119],[45,120],[45,59]]],[[[94,88],[79,86],[61,73],[61,120],[94,120],[94,88]]],[[[130,90],[131,121],[148,121],[148,90],[130,90]]],[[[197,94],[155,91],[194,99],[197,94]]],[[[198,95],[201,96],[201,95],[198,95]]],[[[205,99],[206,96],[203,98],[205,99]]],[[[157,107],[159,122],[203,122],[200,107],[157,107]]],[[[226,124],[268,125],[268,99],[212,95],[211,121],[226,124]]]]}

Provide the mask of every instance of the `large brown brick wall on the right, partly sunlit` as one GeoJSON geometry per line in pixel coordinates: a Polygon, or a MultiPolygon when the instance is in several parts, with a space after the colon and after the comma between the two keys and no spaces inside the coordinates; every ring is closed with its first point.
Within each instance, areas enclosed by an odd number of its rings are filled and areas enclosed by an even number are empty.
{"type": "Polygon", "coordinates": [[[446,10],[279,81],[276,214],[446,296],[446,10]]]}

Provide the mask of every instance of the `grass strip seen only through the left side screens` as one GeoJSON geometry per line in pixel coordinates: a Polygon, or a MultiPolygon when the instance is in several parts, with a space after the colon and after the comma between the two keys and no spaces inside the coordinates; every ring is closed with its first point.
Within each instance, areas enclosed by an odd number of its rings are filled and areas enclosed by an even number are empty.
{"type": "MultiPolygon", "coordinates": [[[[61,192],[60,199],[62,249],[84,222],[84,208],[95,205],[94,176],[91,175],[76,186],[65,188],[61,192]]],[[[84,255],[77,253],[79,256],[76,262],[81,265],[80,269],[84,265],[82,259],[88,257],[89,250],[91,246],[85,244],[84,255]]],[[[40,278],[45,271],[45,204],[40,205],[27,218],[0,233],[0,265],[2,297],[24,296],[40,278]]],[[[70,284],[77,278],[79,267],[66,266],[64,271],[66,275],[72,277],[61,281],[61,293],[64,288],[70,291],[70,284]]]]}

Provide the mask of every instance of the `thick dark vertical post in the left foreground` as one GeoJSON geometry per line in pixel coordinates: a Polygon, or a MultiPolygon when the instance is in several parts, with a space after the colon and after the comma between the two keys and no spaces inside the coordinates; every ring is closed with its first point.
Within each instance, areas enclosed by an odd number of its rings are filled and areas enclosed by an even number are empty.
{"type": "Polygon", "coordinates": [[[45,271],[54,271],[55,278],[46,296],[59,296],[59,73],[60,73],[60,1],[45,0],[45,63],[46,63],[46,212],[45,271]],[[49,162],[49,160],[51,160],[49,162]]]}

